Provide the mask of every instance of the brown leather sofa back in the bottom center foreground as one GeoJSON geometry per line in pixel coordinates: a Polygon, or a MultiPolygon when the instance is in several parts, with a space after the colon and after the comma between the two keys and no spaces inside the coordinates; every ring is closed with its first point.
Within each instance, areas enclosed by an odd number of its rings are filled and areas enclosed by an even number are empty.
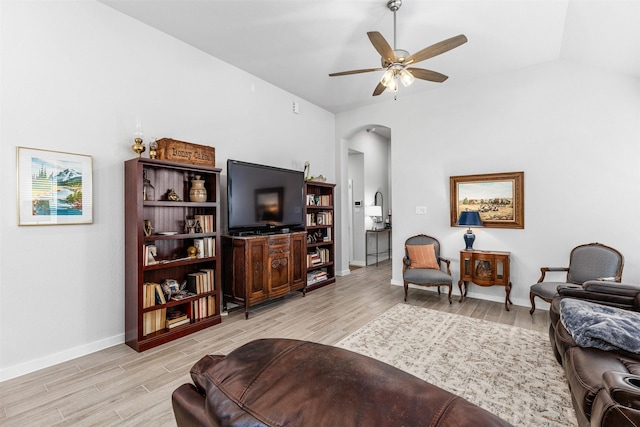
{"type": "Polygon", "coordinates": [[[508,426],[400,369],[337,347],[252,341],[205,356],[173,393],[178,426],[508,426]]]}

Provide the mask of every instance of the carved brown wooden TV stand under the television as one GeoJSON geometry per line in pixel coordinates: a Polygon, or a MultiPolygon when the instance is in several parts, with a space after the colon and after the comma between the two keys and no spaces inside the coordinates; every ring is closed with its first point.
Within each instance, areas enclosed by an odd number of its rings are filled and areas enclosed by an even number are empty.
{"type": "Polygon", "coordinates": [[[280,298],[306,284],[304,231],[286,234],[223,236],[223,305],[249,307],[280,298]]]}

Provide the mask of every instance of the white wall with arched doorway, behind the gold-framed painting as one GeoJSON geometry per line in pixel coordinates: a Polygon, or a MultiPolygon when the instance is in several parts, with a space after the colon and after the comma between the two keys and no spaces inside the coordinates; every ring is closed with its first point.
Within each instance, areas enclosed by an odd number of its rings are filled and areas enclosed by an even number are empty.
{"type": "MultiPolygon", "coordinates": [[[[474,247],[511,251],[515,304],[529,305],[540,267],[567,266],[582,243],[620,250],[624,281],[640,283],[628,219],[640,209],[637,78],[556,61],[465,85],[452,76],[426,94],[409,92],[336,116],[340,149],[367,123],[393,132],[394,284],[402,283],[404,241],[417,233],[440,239],[457,282],[464,229],[449,224],[449,177],[513,171],[525,172],[525,229],[476,229],[474,247]],[[427,215],[415,206],[427,206],[427,215]]],[[[472,285],[469,294],[504,301],[503,288],[472,285]]]]}

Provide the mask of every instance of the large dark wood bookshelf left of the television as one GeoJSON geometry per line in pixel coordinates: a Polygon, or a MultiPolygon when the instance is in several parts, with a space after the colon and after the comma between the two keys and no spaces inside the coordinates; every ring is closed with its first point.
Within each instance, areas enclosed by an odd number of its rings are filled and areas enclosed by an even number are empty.
{"type": "Polygon", "coordinates": [[[220,169],[145,158],[128,160],[124,166],[125,342],[136,351],[144,351],[221,321],[220,169]],[[155,188],[155,200],[144,200],[145,175],[155,188]],[[191,180],[196,175],[205,181],[206,202],[189,201],[191,180]],[[166,199],[170,189],[178,195],[179,201],[166,199]],[[210,215],[213,230],[187,233],[185,220],[195,215],[210,215]],[[151,221],[153,230],[150,235],[145,235],[145,220],[151,221]],[[159,234],[163,232],[175,234],[159,234]],[[194,239],[204,238],[213,239],[212,256],[188,258],[187,248],[194,246],[194,239]],[[156,246],[157,264],[146,265],[145,246],[149,245],[156,246]],[[146,283],[162,284],[166,279],[173,279],[181,284],[189,274],[203,269],[214,271],[212,291],[179,301],[165,295],[166,303],[145,306],[146,283]],[[215,298],[211,306],[207,305],[208,298],[215,298]],[[196,315],[196,303],[207,305],[207,312],[202,310],[196,315]],[[145,330],[145,316],[148,318],[157,310],[160,310],[159,314],[156,313],[159,316],[155,324],[157,330],[145,330]],[[171,310],[187,314],[190,322],[166,328],[166,312],[171,310]]]}

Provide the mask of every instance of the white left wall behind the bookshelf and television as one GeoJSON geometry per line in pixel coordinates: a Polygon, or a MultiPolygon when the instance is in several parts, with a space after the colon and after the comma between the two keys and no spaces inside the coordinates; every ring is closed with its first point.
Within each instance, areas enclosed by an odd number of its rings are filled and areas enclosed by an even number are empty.
{"type": "Polygon", "coordinates": [[[146,138],[214,146],[218,167],[309,160],[335,181],[332,113],[93,0],[3,0],[0,14],[0,380],[123,342],[137,114],[146,138]],[[16,225],[17,146],[93,156],[92,225],[16,225]]]}

